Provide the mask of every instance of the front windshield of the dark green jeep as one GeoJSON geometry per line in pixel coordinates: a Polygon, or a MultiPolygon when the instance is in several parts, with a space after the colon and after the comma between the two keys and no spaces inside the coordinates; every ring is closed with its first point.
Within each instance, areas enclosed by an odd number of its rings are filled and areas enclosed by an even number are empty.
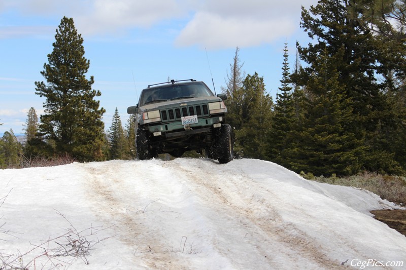
{"type": "Polygon", "coordinates": [[[139,106],[167,100],[209,97],[212,91],[202,82],[162,85],[146,88],[141,93],[139,106]]]}

